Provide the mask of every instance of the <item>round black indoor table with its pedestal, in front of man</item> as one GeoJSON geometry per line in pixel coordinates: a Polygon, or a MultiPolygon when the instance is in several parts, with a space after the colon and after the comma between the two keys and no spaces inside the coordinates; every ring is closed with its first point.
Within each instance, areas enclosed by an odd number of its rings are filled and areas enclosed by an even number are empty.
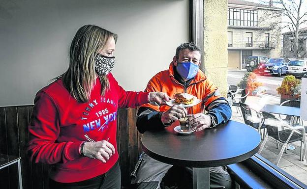
{"type": "Polygon", "coordinates": [[[145,132],[141,139],[142,149],[157,161],[193,167],[194,189],[210,189],[208,167],[242,162],[260,147],[259,133],[240,122],[230,120],[191,135],[176,133],[174,127],[177,125],[145,132]]]}

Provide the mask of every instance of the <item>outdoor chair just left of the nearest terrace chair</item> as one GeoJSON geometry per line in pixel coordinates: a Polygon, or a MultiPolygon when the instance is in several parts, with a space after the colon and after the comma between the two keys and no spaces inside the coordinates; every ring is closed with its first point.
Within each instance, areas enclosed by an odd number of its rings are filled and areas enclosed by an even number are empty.
{"type": "Polygon", "coordinates": [[[245,124],[258,130],[259,134],[261,135],[261,138],[263,139],[265,134],[265,125],[261,124],[261,122],[263,121],[261,113],[246,105],[245,103],[239,104],[245,124]],[[261,129],[263,129],[263,134],[261,133],[261,129]]]}

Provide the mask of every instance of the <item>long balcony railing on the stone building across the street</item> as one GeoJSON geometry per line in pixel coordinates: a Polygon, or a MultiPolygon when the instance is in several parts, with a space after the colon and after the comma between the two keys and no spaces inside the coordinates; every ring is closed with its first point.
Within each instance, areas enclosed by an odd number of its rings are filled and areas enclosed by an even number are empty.
{"type": "Polygon", "coordinates": [[[266,42],[266,41],[228,41],[229,48],[240,48],[240,49],[274,49],[275,48],[274,42],[266,42]]]}

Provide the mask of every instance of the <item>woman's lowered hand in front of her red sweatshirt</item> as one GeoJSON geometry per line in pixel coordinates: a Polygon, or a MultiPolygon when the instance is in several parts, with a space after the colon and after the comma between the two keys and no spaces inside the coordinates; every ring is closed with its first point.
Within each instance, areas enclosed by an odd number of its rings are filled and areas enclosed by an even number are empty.
{"type": "Polygon", "coordinates": [[[115,154],[115,148],[106,140],[86,142],[84,144],[84,155],[86,157],[97,159],[105,163],[113,154],[115,154]]]}

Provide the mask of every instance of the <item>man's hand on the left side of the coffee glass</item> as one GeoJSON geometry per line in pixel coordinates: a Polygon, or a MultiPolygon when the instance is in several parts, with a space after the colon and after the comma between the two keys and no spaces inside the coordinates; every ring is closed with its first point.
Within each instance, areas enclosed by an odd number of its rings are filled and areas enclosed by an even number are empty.
{"type": "Polygon", "coordinates": [[[182,106],[174,105],[167,111],[164,111],[161,115],[161,121],[163,124],[170,123],[171,121],[177,121],[180,118],[186,117],[187,111],[182,106]]]}

